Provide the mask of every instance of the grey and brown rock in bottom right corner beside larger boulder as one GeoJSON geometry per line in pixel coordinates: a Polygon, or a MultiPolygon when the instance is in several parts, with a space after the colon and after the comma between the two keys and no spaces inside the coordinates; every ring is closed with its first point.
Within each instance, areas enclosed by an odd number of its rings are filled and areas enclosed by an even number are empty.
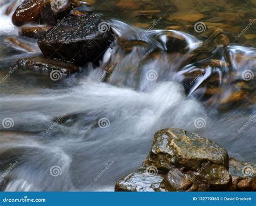
{"type": "Polygon", "coordinates": [[[232,191],[256,191],[256,164],[230,158],[232,191]]]}

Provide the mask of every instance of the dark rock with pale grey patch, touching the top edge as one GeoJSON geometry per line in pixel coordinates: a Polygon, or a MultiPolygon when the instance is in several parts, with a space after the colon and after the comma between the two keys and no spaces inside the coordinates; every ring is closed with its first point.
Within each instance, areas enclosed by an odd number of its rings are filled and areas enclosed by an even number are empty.
{"type": "Polygon", "coordinates": [[[58,20],[69,15],[69,12],[77,6],[77,2],[71,0],[45,0],[41,8],[43,21],[49,25],[56,25],[58,20]]]}

